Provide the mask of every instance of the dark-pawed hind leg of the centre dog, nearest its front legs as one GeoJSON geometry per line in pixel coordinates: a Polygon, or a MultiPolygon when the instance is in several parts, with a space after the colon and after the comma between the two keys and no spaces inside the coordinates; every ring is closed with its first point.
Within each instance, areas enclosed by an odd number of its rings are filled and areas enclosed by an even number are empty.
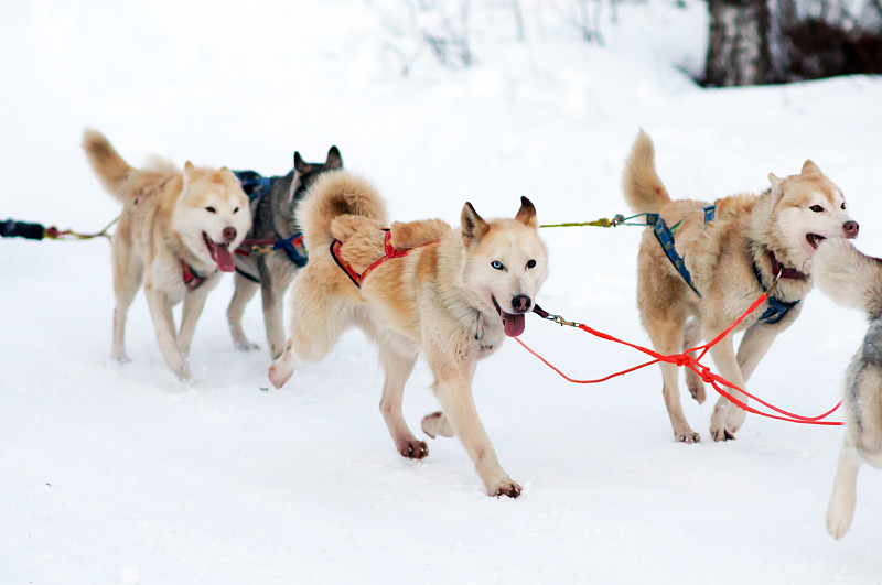
{"type": "Polygon", "coordinates": [[[395,448],[402,456],[410,459],[421,459],[429,454],[429,447],[424,441],[418,441],[410,432],[401,412],[401,400],[405,391],[405,383],[413,371],[417,356],[402,356],[388,344],[381,343],[379,346],[379,359],[386,380],[383,382],[383,398],[379,401],[379,411],[383,420],[389,429],[389,434],[395,441],[395,448]]]}

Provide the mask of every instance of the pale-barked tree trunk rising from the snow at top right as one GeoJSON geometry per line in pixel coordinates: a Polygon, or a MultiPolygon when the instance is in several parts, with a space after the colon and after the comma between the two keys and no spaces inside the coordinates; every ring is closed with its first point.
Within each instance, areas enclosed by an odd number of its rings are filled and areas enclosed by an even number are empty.
{"type": "Polygon", "coordinates": [[[709,0],[710,42],[704,85],[732,87],[770,80],[765,0],[709,0]]]}

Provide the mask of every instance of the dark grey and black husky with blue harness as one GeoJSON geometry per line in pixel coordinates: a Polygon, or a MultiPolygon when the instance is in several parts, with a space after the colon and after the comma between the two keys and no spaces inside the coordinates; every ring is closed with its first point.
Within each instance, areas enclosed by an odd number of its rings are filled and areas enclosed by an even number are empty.
{"type": "MultiPolygon", "coordinates": [[[[320,174],[343,167],[343,159],[336,147],[327,151],[324,163],[306,163],[294,152],[294,169],[284,176],[260,177],[252,171],[236,174],[243,182],[250,199],[252,225],[246,236],[249,241],[276,241],[283,243],[271,253],[256,253],[254,247],[247,247],[237,253],[236,290],[227,308],[227,321],[233,342],[239,349],[257,349],[245,336],[241,316],[257,289],[263,301],[263,325],[267,329],[267,343],[273,359],[284,349],[284,327],[282,324],[282,297],[284,291],[305,260],[303,246],[292,240],[300,232],[294,224],[294,209],[306,193],[306,189],[320,174]]],[[[272,246],[272,245],[269,245],[272,246]]]]}

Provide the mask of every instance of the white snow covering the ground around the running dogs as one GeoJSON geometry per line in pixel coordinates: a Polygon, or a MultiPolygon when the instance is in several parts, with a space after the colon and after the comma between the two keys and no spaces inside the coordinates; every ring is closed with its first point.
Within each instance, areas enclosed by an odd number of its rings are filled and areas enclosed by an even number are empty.
{"type": "MultiPolygon", "coordinates": [[[[590,220],[625,210],[620,173],[642,126],[678,196],[759,191],[814,159],[849,198],[859,247],[882,256],[882,80],[700,89],[681,73],[701,67],[700,2],[622,6],[619,24],[604,9],[604,47],[579,40],[561,2],[524,2],[525,43],[503,3],[472,2],[480,63],[449,71],[423,50],[405,78],[388,3],[248,4],[3,2],[0,219],[88,231],[115,217],[79,149],[94,127],[132,163],[160,153],[265,174],[335,143],[401,219],[456,221],[464,201],[512,215],[528,195],[541,221],[590,220]]],[[[540,304],[645,344],[638,228],[542,236],[540,304]]],[[[359,334],[267,390],[265,350],[238,353],[227,333],[227,279],[183,387],[142,296],[132,362],[109,360],[107,242],[0,250],[2,583],[882,583],[882,474],[862,470],[846,538],[825,531],[840,429],[750,416],[716,444],[710,404],[685,400],[704,442],[677,444],[656,368],[572,386],[508,343],[478,368],[475,397],[525,491],[488,498],[456,441],[430,441],[421,462],[396,454],[359,334]]],[[[266,345],[259,302],[246,328],[266,345]]],[[[826,410],[863,332],[813,293],[750,389],[826,410]]],[[[582,378],[642,359],[538,318],[523,338],[582,378]]],[[[429,383],[419,364],[413,429],[437,409],[429,383]]]]}

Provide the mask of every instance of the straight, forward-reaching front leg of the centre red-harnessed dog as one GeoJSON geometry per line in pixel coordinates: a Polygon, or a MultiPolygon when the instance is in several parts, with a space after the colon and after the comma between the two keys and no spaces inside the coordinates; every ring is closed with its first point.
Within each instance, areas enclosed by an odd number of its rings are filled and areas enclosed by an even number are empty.
{"type": "Polygon", "coordinates": [[[475,373],[474,360],[460,360],[459,364],[431,359],[430,366],[435,375],[435,392],[441,409],[460,437],[465,451],[475,464],[477,475],[484,481],[487,496],[508,496],[517,498],[520,486],[513,481],[499,465],[496,451],[490,442],[487,432],[477,416],[472,397],[472,378],[475,373]]]}

